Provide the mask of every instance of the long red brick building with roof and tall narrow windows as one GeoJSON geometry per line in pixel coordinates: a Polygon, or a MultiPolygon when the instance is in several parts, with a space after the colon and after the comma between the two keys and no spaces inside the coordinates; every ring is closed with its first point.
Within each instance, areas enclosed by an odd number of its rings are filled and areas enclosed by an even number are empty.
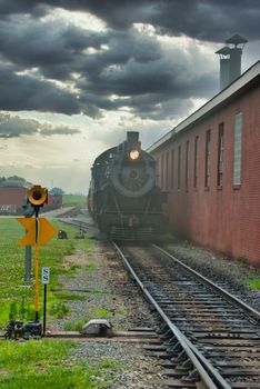
{"type": "Polygon", "coordinates": [[[172,230],[260,266],[260,61],[148,151],[172,230]]]}

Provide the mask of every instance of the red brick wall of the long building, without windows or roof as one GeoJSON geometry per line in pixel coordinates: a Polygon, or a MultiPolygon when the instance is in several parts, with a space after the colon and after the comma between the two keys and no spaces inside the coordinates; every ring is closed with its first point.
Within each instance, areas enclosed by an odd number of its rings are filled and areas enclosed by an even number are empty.
{"type": "Polygon", "coordinates": [[[260,266],[260,89],[248,91],[152,154],[159,161],[158,183],[169,191],[167,210],[182,238],[260,266]],[[233,187],[234,116],[242,112],[241,186],[233,187]],[[218,132],[224,123],[223,184],[217,187],[218,132]],[[204,188],[206,132],[211,130],[210,179],[204,188]],[[198,188],[194,180],[194,139],[199,137],[198,188]],[[186,143],[189,141],[189,187],[186,188],[186,143]],[[180,189],[178,148],[181,146],[180,189]],[[174,150],[171,188],[171,150],[174,150]],[[169,154],[167,180],[167,152],[169,154]],[[163,173],[162,173],[163,154],[163,173]],[[168,188],[167,188],[168,181],[168,188]]]}

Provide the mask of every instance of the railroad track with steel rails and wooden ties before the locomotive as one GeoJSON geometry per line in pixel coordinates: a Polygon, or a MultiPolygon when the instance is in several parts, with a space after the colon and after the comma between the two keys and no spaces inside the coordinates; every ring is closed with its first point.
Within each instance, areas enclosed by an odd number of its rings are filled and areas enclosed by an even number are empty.
{"type": "Polygon", "coordinates": [[[260,388],[260,312],[157,246],[113,243],[161,319],[160,358],[172,388],[260,388]]]}

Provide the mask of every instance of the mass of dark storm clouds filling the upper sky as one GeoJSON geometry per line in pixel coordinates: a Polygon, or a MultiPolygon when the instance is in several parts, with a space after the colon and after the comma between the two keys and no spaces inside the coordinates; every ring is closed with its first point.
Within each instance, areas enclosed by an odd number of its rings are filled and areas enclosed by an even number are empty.
{"type": "Polygon", "coordinates": [[[132,24],[217,42],[234,32],[259,38],[258,21],[258,1],[1,0],[0,109],[92,118],[127,109],[154,120],[180,117],[192,99],[217,92],[217,57],[212,72],[196,43],[169,52],[154,34],[132,24]],[[54,7],[88,11],[108,28],[90,32],[54,13],[42,18],[54,7]]]}

